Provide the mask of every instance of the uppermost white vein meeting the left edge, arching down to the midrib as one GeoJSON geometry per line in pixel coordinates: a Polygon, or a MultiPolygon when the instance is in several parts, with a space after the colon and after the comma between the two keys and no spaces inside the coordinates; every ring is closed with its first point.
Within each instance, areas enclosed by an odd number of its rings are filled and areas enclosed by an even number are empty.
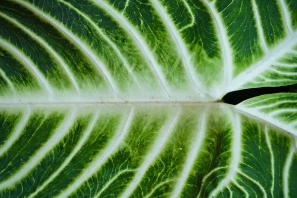
{"type": "Polygon", "coordinates": [[[46,41],[44,41],[41,37],[37,36],[34,32],[32,32],[31,30],[29,30],[28,28],[23,26],[21,23],[19,23],[17,20],[13,19],[12,17],[7,16],[6,14],[4,14],[2,12],[0,12],[0,16],[2,16],[3,18],[7,19],[8,21],[14,23],[15,25],[17,25],[19,28],[21,28],[23,31],[25,31],[31,38],[35,39],[38,43],[41,44],[41,46],[43,46],[45,49],[47,49],[49,54],[51,54],[62,65],[62,68],[65,70],[66,74],[68,75],[69,79],[71,80],[71,83],[75,87],[77,93],[80,95],[79,86],[77,85],[75,78],[74,78],[73,74],[71,73],[71,70],[69,69],[69,66],[55,52],[55,50],[49,46],[49,44],[46,41]]]}

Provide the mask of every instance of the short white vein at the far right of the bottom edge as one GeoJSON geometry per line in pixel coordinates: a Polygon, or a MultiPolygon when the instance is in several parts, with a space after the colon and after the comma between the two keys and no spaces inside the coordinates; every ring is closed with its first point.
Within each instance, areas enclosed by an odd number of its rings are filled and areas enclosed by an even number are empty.
{"type": "Polygon", "coordinates": [[[289,184],[289,179],[290,179],[290,168],[292,165],[293,157],[295,153],[295,145],[293,144],[290,150],[290,153],[286,159],[286,164],[283,172],[283,181],[284,181],[284,197],[289,198],[289,192],[290,192],[290,184],[289,184]]]}

